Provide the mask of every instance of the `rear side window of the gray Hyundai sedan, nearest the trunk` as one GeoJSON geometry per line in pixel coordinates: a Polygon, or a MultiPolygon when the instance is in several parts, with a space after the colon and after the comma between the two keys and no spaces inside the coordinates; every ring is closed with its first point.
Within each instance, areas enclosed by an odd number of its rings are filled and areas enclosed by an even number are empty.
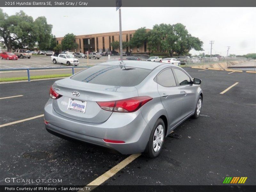
{"type": "Polygon", "coordinates": [[[166,69],[157,75],[157,83],[164,87],[176,86],[172,69],[166,69]]]}

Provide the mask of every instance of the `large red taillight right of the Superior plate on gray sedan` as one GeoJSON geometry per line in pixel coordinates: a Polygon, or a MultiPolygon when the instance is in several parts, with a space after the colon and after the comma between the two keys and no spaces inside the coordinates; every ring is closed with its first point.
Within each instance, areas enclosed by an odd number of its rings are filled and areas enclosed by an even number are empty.
{"type": "Polygon", "coordinates": [[[114,112],[134,112],[141,108],[145,103],[153,98],[148,96],[132,97],[124,100],[117,101],[103,101],[97,102],[100,108],[107,111],[114,112]]]}

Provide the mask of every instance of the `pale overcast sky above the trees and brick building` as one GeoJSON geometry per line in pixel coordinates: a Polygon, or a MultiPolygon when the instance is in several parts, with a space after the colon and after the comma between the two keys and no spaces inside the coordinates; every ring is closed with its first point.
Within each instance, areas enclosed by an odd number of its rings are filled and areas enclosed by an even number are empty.
{"type": "MultiPolygon", "coordinates": [[[[36,19],[45,16],[53,25],[52,33],[62,37],[67,33],[86,35],[119,31],[118,11],[115,7],[4,7],[8,15],[20,10],[36,19]],[[65,17],[64,17],[65,16],[65,17]],[[87,22],[90,21],[90,22],[87,22]],[[90,23],[90,24],[87,24],[90,23]]],[[[133,30],[140,27],[152,29],[154,24],[182,23],[192,36],[204,42],[205,54],[246,54],[256,52],[256,8],[221,7],[122,7],[122,29],[133,30]]],[[[201,53],[202,53],[201,52],[201,53]]],[[[198,54],[194,50],[190,53],[198,54]]]]}

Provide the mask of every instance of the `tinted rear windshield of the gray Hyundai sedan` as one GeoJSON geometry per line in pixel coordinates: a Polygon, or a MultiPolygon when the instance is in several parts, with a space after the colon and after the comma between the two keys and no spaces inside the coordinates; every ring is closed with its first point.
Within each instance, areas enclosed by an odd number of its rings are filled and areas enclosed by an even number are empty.
{"type": "Polygon", "coordinates": [[[96,65],[72,76],[71,79],[85,83],[132,87],[151,72],[149,69],[96,65]]]}

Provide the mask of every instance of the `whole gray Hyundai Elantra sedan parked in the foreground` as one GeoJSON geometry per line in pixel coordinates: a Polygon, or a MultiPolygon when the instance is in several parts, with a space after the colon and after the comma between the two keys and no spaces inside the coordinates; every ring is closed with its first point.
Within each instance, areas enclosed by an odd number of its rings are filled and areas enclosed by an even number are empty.
{"type": "Polygon", "coordinates": [[[172,64],[102,63],[52,85],[45,127],[122,154],[156,157],[174,128],[199,116],[200,83],[172,64]]]}

